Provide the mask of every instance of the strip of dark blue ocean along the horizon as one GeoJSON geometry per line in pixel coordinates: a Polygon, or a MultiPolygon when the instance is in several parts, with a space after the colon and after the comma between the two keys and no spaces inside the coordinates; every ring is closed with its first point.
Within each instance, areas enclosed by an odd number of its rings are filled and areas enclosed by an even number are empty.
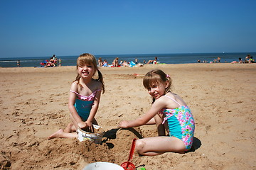
{"type": "MultiPolygon", "coordinates": [[[[177,53],[177,54],[146,54],[146,55],[95,55],[98,59],[107,60],[112,63],[114,58],[119,57],[119,61],[126,60],[127,62],[138,59],[139,62],[146,60],[154,60],[158,57],[160,64],[187,64],[197,63],[198,60],[213,62],[213,60],[220,57],[220,62],[238,61],[238,58],[245,59],[247,54],[255,56],[256,52],[222,52],[222,53],[177,53]]],[[[42,67],[41,62],[50,60],[51,56],[46,57],[14,57],[14,58],[0,58],[0,67],[17,67],[17,61],[20,60],[20,67],[42,67]]],[[[62,66],[75,66],[78,56],[58,56],[61,59],[62,66]]]]}

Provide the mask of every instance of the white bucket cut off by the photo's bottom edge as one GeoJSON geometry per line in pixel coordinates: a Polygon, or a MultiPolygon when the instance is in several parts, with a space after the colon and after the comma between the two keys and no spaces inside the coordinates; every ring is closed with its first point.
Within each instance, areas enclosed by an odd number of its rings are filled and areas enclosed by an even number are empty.
{"type": "Polygon", "coordinates": [[[95,162],[92,164],[88,164],[82,170],[124,170],[124,169],[117,164],[112,164],[109,162],[95,162]]]}

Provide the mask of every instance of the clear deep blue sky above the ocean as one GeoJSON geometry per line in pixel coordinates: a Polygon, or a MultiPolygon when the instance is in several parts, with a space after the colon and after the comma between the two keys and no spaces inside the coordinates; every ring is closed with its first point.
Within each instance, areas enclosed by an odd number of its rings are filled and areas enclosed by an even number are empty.
{"type": "Polygon", "coordinates": [[[0,57],[255,52],[255,0],[0,0],[0,57]]]}

